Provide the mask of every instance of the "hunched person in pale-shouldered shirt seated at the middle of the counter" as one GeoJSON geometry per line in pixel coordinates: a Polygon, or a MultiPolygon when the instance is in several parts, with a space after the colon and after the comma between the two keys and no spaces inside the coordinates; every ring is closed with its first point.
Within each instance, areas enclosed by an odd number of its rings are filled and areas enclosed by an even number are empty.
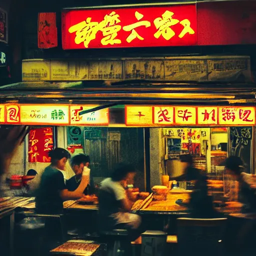
{"type": "Polygon", "coordinates": [[[125,192],[127,180],[133,179],[135,169],[131,164],[118,163],[111,177],[101,182],[99,189],[99,223],[102,230],[124,228],[130,232],[130,239],[136,239],[141,232],[138,228],[140,216],[129,213],[132,195],[125,192]]]}

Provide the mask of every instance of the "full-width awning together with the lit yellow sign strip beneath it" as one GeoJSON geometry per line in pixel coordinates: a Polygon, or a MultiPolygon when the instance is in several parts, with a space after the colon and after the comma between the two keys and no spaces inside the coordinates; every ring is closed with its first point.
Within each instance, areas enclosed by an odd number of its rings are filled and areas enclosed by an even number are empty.
{"type": "Polygon", "coordinates": [[[21,82],[0,90],[0,124],[157,127],[256,123],[253,84],[21,82]]]}

